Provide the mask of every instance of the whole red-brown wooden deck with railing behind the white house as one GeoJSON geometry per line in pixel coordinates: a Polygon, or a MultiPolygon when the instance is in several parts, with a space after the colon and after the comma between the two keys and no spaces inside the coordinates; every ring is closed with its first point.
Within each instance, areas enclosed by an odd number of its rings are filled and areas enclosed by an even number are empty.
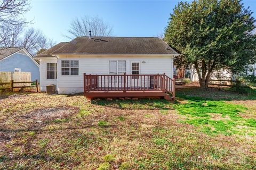
{"type": "Polygon", "coordinates": [[[87,98],[163,97],[174,100],[175,80],[165,74],[92,75],[84,73],[87,98]]]}

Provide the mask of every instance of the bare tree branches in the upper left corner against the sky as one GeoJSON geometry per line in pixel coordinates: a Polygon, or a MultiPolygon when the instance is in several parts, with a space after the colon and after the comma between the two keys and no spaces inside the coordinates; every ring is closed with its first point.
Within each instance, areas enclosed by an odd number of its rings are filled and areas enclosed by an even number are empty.
{"type": "Polygon", "coordinates": [[[18,33],[17,31],[21,30],[23,25],[29,23],[25,19],[20,18],[20,15],[29,9],[28,0],[3,0],[0,2],[0,29],[2,33],[0,44],[6,43],[5,39],[7,38],[15,41],[14,37],[18,33]]]}

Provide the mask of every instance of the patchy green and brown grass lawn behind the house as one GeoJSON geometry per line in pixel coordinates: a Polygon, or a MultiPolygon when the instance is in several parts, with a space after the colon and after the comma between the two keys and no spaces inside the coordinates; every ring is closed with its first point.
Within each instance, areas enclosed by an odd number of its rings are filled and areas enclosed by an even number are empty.
{"type": "Polygon", "coordinates": [[[177,89],[177,101],[2,94],[0,169],[254,169],[256,97],[177,89]]]}

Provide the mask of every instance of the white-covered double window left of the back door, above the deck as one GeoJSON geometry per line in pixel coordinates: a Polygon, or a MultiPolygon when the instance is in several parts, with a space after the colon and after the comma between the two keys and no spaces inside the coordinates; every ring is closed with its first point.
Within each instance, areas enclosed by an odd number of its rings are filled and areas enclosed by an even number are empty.
{"type": "Polygon", "coordinates": [[[109,61],[109,74],[126,73],[126,61],[109,61]]]}

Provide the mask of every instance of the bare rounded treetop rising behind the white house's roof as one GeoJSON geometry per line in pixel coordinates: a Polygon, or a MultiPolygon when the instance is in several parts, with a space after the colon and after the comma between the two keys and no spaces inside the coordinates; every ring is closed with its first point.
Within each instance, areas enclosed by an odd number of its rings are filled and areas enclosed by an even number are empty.
{"type": "Polygon", "coordinates": [[[71,22],[68,35],[65,37],[74,39],[76,37],[89,36],[89,31],[92,31],[93,37],[107,37],[112,34],[112,29],[108,23],[104,22],[98,16],[84,16],[82,18],[76,18],[71,22]]]}

